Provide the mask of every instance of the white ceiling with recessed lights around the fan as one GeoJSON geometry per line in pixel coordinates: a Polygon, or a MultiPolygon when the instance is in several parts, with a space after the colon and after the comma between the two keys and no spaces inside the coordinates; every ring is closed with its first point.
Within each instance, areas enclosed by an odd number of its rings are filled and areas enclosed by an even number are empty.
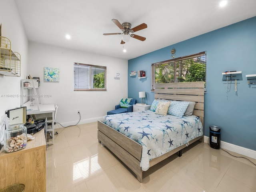
{"type": "Polygon", "coordinates": [[[256,0],[227,1],[220,8],[220,0],[15,0],[28,40],[124,59],[256,16],[256,0]],[[122,32],[113,18],[132,28],[146,23],[134,33],[146,40],[122,45],[122,35],[104,36],[122,32]]]}

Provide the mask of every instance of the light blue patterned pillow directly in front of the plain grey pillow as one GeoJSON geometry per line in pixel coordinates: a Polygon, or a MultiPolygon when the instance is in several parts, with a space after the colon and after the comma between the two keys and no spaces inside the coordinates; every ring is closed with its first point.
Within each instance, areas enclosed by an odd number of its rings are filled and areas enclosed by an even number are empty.
{"type": "Polygon", "coordinates": [[[183,117],[184,113],[188,108],[189,102],[185,101],[172,101],[170,103],[167,114],[174,115],[178,117],[183,117]]]}

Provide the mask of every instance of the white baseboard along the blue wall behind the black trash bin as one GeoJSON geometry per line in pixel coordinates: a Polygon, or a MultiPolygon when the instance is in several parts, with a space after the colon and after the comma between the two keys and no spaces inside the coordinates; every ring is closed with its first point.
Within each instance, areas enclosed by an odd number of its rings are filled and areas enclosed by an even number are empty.
{"type": "MultiPolygon", "coordinates": [[[[204,142],[210,144],[209,137],[204,136],[204,142]]],[[[256,159],[256,151],[238,145],[220,141],[220,147],[232,152],[256,159]]]]}

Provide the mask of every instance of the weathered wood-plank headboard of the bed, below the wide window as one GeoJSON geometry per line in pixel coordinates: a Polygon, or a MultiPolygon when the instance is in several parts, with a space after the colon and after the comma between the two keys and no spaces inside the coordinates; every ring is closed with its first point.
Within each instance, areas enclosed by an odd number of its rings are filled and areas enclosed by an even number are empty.
{"type": "Polygon", "coordinates": [[[155,84],[155,99],[196,102],[193,115],[204,126],[204,82],[180,82],[155,84]]]}

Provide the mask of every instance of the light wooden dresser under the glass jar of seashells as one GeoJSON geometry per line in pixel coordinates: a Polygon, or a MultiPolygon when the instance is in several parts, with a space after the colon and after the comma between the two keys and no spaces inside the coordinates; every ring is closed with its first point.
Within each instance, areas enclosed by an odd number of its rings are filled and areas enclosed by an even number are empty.
{"type": "Polygon", "coordinates": [[[23,183],[27,192],[46,191],[46,140],[44,129],[33,135],[26,148],[6,153],[0,151],[0,190],[23,183]]]}

